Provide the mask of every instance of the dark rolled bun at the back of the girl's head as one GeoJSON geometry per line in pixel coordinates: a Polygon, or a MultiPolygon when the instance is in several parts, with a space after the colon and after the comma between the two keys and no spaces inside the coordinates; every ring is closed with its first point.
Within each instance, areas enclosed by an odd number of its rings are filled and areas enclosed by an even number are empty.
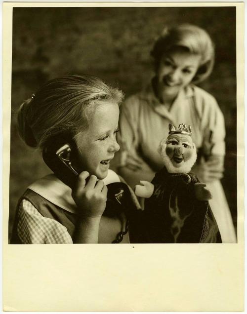
{"type": "Polygon", "coordinates": [[[25,100],[20,108],[18,109],[17,112],[17,129],[19,132],[20,137],[23,139],[23,141],[30,147],[37,147],[38,143],[35,139],[34,133],[29,126],[28,123],[28,111],[29,111],[29,105],[31,101],[33,100],[32,98],[29,98],[25,100]]]}

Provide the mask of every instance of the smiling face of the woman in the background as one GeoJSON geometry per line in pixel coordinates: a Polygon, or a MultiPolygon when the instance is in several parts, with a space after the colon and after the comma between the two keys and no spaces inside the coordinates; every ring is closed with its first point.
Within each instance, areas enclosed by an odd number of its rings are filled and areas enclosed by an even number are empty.
{"type": "Polygon", "coordinates": [[[173,100],[194,78],[201,57],[184,50],[164,54],[157,71],[159,96],[173,100]]]}

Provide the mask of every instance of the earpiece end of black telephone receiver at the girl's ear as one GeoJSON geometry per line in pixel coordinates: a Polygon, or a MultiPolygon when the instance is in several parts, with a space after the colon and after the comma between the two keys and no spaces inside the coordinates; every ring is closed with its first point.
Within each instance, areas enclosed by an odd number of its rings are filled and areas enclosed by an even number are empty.
{"type": "Polygon", "coordinates": [[[55,176],[71,189],[74,188],[77,176],[81,171],[75,166],[78,149],[74,142],[56,141],[44,147],[42,157],[55,176]]]}

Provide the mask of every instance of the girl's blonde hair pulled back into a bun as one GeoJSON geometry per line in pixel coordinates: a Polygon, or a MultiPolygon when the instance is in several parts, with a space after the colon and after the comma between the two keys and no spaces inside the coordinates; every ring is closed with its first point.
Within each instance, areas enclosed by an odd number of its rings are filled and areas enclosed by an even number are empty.
{"type": "Polygon", "coordinates": [[[124,94],[92,76],[52,79],[34,97],[24,101],[17,113],[17,127],[28,146],[41,149],[63,136],[75,139],[85,131],[102,103],[122,102],[124,94]]]}

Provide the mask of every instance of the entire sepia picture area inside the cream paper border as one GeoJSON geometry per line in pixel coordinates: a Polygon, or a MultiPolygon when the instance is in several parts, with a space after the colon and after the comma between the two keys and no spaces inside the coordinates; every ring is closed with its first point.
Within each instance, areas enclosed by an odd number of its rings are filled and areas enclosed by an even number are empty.
{"type": "Polygon", "coordinates": [[[10,243],[237,242],[235,7],[16,7],[11,85],[10,243]]]}

